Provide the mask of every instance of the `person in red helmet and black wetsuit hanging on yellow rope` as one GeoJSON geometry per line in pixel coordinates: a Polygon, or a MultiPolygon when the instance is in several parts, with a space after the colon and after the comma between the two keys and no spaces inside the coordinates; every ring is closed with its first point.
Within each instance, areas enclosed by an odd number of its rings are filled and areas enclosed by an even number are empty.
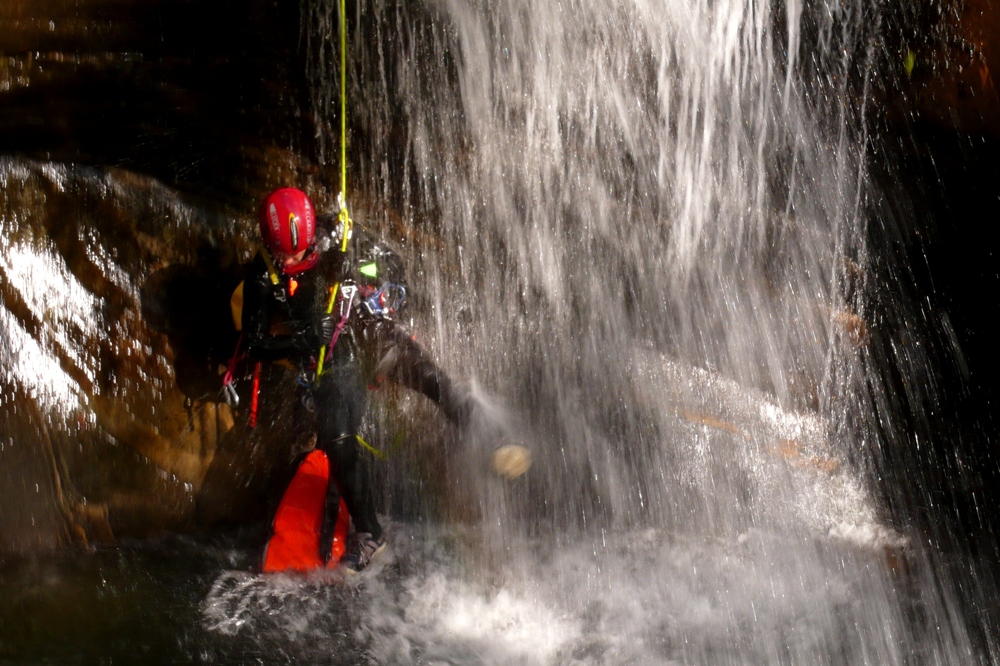
{"type": "Polygon", "coordinates": [[[364,468],[368,456],[361,455],[357,436],[367,380],[375,375],[417,390],[458,425],[468,421],[470,406],[467,394],[456,390],[395,319],[405,298],[398,255],[357,227],[352,233],[335,218],[320,223],[329,228],[317,231],[312,202],[301,190],[283,188],[264,199],[264,248],[244,280],[243,336],[251,360],[284,360],[299,372],[308,391],[304,402],[316,412],[316,446],[330,460],[333,480],[320,554],[324,561],[330,557],[342,496],[355,533],[341,564],[357,572],[385,547],[364,468]]]}

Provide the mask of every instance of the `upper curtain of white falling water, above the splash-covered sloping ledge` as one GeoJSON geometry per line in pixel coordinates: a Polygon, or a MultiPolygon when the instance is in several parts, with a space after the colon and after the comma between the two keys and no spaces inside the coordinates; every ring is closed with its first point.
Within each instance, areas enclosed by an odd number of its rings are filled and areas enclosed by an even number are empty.
{"type": "MultiPolygon", "coordinates": [[[[422,323],[540,429],[547,503],[578,501],[593,467],[591,511],[688,522],[670,484],[646,478],[649,456],[683,446],[661,421],[690,411],[675,404],[690,391],[651,379],[669,364],[809,409],[836,446],[860,448],[842,424],[864,381],[867,84],[854,79],[868,53],[861,11],[831,12],[815,12],[825,24],[801,58],[794,4],[360,7],[353,182],[392,207],[367,215],[428,239],[422,323]],[[636,495],[652,485],[673,515],[643,515],[662,512],[636,495]]],[[[330,91],[323,55],[310,62],[330,91]]],[[[689,416],[725,421],[703,412],[689,416]]],[[[745,508],[718,529],[767,512],[745,508]]]]}

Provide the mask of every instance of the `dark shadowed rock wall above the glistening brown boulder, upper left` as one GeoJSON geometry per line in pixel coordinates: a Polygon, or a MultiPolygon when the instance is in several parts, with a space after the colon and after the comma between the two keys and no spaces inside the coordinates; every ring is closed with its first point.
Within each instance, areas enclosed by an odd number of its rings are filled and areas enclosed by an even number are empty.
{"type": "Polygon", "coordinates": [[[4,1],[0,24],[2,153],[237,206],[305,168],[297,3],[4,1]]]}

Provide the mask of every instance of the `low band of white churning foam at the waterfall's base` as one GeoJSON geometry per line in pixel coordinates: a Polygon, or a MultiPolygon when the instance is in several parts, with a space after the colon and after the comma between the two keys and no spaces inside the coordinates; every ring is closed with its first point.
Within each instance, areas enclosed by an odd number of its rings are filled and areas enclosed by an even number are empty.
{"type": "Polygon", "coordinates": [[[910,602],[872,608],[866,588],[882,561],[869,549],[831,548],[816,567],[802,557],[816,544],[760,531],[609,532],[597,546],[518,539],[511,550],[530,554],[530,568],[500,567],[486,582],[461,530],[388,533],[378,571],[357,579],[222,574],[203,605],[206,629],[330,663],[895,663],[901,645],[919,643],[904,621],[910,602]],[[848,618],[873,610],[903,635],[862,636],[848,618]]]}

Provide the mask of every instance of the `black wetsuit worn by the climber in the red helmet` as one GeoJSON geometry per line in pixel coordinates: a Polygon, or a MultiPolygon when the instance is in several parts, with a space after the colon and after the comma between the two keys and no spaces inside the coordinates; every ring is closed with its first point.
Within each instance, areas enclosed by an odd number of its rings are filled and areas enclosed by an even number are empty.
{"type": "MultiPolygon", "coordinates": [[[[336,345],[327,352],[319,385],[311,381],[320,346],[328,342],[322,339],[321,320],[326,314],[330,287],[346,281],[358,286],[359,294],[363,295],[383,284],[382,273],[395,273],[391,277],[402,281],[401,271],[397,255],[375,244],[355,227],[347,257],[339,248],[320,252],[315,266],[292,276],[296,283],[294,293],[290,278],[280,271],[279,285],[272,284],[260,254],[246,273],[243,336],[250,358],[288,360],[300,370],[305,382],[314,387],[309,390],[316,411],[316,446],[327,454],[336,482],[330,484],[327,493],[321,543],[321,553],[327,555],[340,496],[357,532],[370,532],[375,539],[382,533],[363,468],[363,461],[369,456],[361,455],[355,437],[366,410],[366,386],[375,379],[366,375],[377,373],[379,381],[388,380],[420,391],[456,424],[467,420],[465,395],[455,390],[448,377],[391,316],[371,313],[359,303],[359,296],[354,299],[336,345]],[[359,271],[360,266],[372,264],[377,268],[374,278],[359,271]]],[[[339,320],[336,308],[333,317],[339,320]]]]}

